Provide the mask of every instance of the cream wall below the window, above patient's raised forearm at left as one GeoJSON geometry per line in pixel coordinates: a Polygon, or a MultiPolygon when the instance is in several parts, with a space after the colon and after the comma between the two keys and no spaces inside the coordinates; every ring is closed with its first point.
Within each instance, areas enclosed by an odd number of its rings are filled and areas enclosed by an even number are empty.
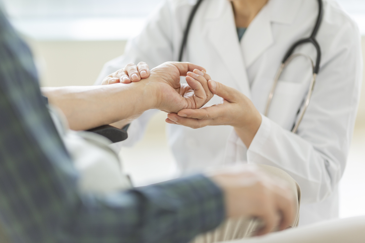
{"type": "Polygon", "coordinates": [[[37,42],[33,50],[42,86],[93,85],[103,64],[124,51],[125,41],[37,42]]]}

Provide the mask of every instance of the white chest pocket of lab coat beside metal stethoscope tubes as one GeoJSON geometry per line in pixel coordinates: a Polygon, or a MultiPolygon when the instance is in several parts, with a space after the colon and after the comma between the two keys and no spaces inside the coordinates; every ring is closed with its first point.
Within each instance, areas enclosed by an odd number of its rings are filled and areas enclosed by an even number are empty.
{"type": "Polygon", "coordinates": [[[307,93],[305,83],[278,81],[268,117],[287,130],[291,130],[307,93]]]}

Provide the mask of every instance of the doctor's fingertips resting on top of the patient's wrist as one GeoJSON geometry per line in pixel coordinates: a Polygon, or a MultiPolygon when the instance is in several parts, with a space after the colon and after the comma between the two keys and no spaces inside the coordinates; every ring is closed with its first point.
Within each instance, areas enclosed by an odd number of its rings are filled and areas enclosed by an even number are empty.
{"type": "Polygon", "coordinates": [[[110,74],[108,77],[105,77],[101,85],[138,82],[141,79],[150,77],[150,73],[147,63],[140,62],[137,65],[130,63],[124,68],[110,74]]]}

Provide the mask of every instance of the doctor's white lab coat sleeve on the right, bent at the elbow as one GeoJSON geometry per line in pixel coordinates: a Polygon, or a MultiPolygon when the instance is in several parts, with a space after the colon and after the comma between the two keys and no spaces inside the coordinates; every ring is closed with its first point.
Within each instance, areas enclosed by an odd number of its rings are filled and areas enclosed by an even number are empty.
{"type": "Polygon", "coordinates": [[[355,24],[347,21],[324,55],[298,132],[285,130],[262,115],[262,124],[247,150],[247,162],[288,172],[300,185],[304,203],[326,199],[345,169],[361,81],[360,34],[355,24]]]}

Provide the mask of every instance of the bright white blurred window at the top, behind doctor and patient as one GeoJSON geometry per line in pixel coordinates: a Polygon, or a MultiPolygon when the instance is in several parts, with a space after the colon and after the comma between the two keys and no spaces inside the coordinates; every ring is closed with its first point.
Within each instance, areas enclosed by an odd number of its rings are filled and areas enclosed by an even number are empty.
{"type": "MultiPolygon", "coordinates": [[[[3,0],[14,26],[35,39],[121,40],[163,0],[3,0]],[[115,31],[115,30],[123,31],[115,31]]],[[[308,1],[308,0],[306,0],[308,1]]],[[[365,35],[365,0],[338,0],[365,35]]]]}

